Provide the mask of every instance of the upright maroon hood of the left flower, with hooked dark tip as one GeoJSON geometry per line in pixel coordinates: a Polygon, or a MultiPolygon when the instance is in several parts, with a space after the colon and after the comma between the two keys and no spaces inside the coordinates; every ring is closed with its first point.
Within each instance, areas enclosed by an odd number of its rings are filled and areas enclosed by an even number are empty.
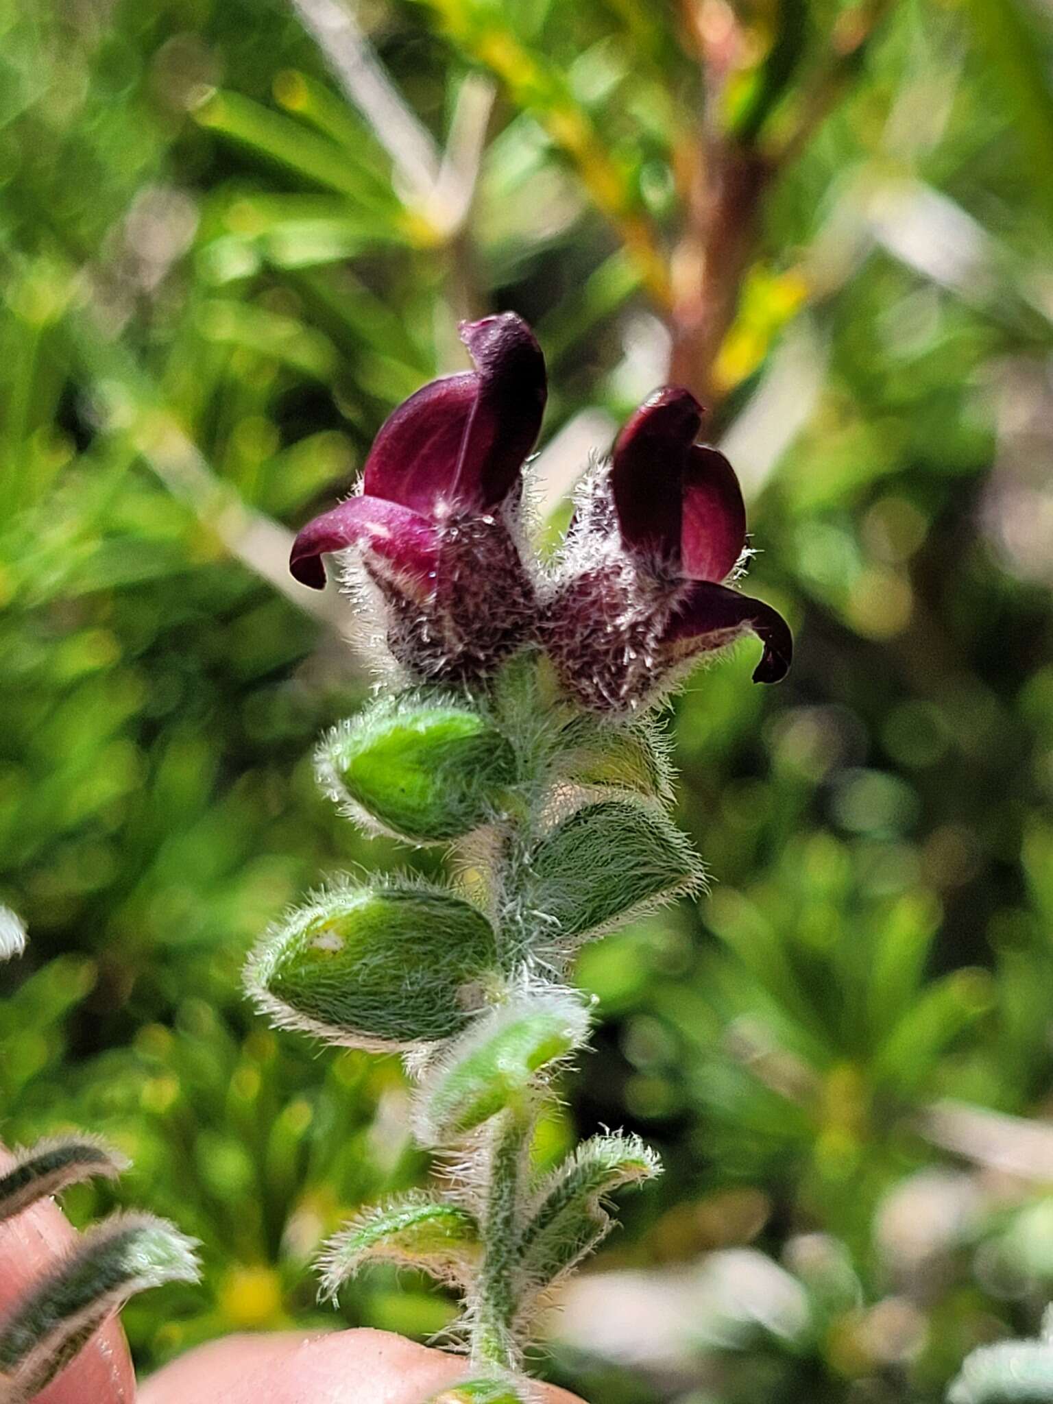
{"type": "Polygon", "coordinates": [[[545,358],[521,317],[465,323],[461,336],[477,369],[411,395],[388,417],[365,463],[369,496],[425,517],[442,504],[484,512],[503,503],[545,409],[545,358]]]}

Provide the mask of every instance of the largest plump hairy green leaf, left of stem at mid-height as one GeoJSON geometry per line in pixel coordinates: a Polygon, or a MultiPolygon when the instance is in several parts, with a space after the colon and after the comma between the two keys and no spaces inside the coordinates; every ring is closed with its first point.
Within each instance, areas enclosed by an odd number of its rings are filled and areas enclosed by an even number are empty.
{"type": "Polygon", "coordinates": [[[442,887],[337,887],[264,936],[250,994],[281,1026],[397,1049],[461,1033],[497,966],[493,927],[442,887]]]}

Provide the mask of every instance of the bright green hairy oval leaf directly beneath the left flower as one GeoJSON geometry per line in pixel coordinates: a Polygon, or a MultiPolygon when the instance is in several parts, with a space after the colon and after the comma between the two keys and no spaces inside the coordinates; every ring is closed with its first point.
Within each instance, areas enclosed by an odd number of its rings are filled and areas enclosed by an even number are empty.
{"type": "Polygon", "coordinates": [[[396,838],[437,842],[486,824],[515,779],[515,753],[458,701],[385,701],[334,727],[317,753],[323,788],[396,838]]]}

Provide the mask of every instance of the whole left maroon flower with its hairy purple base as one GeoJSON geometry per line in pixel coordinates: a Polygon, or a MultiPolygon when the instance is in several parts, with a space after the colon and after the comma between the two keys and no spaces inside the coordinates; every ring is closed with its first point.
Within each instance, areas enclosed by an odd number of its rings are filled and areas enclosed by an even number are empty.
{"type": "Polygon", "coordinates": [[[529,636],[536,612],[517,518],[545,359],[511,312],[462,323],[461,337],[476,369],[432,380],[395,410],[361,494],[307,522],[289,560],[320,590],[322,556],[358,548],[383,597],[392,653],[427,678],[487,673],[529,636]]]}

